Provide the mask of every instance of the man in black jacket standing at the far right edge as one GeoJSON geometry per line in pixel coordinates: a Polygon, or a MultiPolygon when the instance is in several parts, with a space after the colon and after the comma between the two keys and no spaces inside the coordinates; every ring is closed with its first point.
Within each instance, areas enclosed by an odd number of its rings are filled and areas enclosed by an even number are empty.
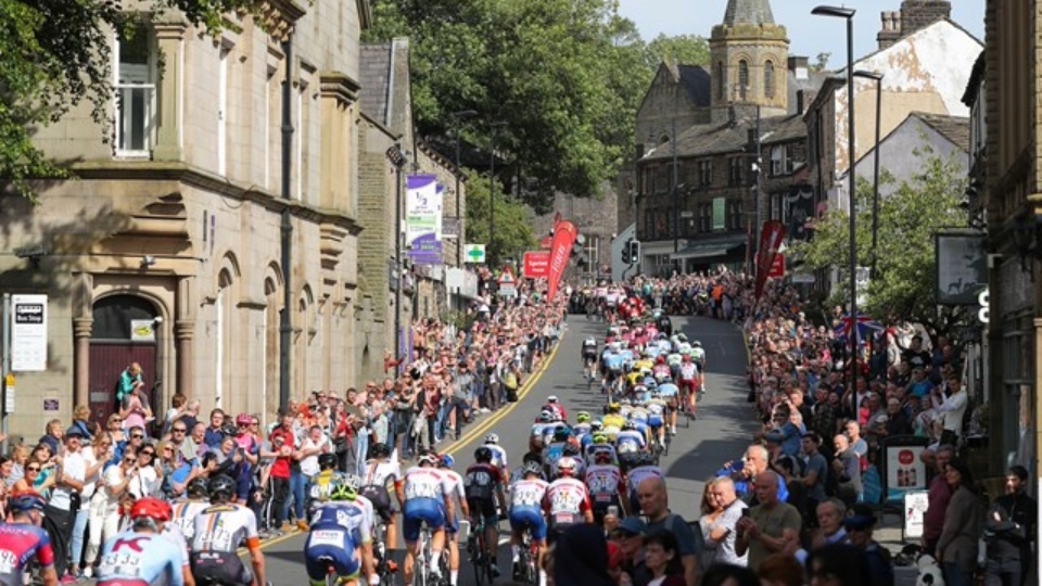
{"type": "Polygon", "coordinates": [[[1038,502],[1025,493],[1027,482],[1026,468],[1011,468],[1006,472],[1006,494],[988,511],[986,586],[1022,586],[1027,578],[1038,519],[1038,502]]]}

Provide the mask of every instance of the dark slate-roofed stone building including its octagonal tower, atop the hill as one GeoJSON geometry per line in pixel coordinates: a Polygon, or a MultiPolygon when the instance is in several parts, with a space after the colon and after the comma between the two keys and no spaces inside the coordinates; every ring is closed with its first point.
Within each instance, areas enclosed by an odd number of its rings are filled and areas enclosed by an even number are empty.
{"type": "Polygon", "coordinates": [[[801,115],[825,78],[788,44],[767,0],[730,0],[708,74],[660,67],[637,116],[636,175],[620,191],[620,222],[636,225],[644,272],[744,269],[754,227],[788,220],[806,181],[801,115]]]}

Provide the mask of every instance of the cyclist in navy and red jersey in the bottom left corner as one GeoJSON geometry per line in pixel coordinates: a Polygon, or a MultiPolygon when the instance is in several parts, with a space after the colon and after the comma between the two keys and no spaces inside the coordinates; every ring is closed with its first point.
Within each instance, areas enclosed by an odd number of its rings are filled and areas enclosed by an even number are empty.
{"type": "Polygon", "coordinates": [[[22,586],[28,565],[36,560],[45,586],[58,586],[51,538],[40,528],[47,501],[37,493],[18,493],[8,500],[10,523],[0,523],[0,584],[22,586]]]}

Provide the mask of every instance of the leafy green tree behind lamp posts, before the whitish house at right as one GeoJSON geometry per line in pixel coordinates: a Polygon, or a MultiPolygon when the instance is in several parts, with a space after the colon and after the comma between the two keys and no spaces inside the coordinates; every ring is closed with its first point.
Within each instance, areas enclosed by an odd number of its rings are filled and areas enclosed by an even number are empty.
{"type": "MultiPolygon", "coordinates": [[[[868,283],[866,313],[877,319],[917,321],[938,333],[951,333],[963,324],[964,308],[938,309],[935,291],[933,234],[943,229],[965,228],[968,217],[958,207],[966,190],[966,175],[957,162],[929,151],[916,152],[922,162],[919,174],[901,182],[887,196],[880,196],[877,273],[868,283]]],[[[889,174],[880,184],[892,186],[889,174]]],[[[857,265],[872,265],[872,183],[857,182],[857,265]]],[[[810,269],[849,267],[849,216],[829,212],[818,221],[814,238],[796,243],[791,254],[802,256],[810,269]]],[[[841,270],[841,282],[833,291],[828,305],[849,301],[849,270],[841,270]]]]}

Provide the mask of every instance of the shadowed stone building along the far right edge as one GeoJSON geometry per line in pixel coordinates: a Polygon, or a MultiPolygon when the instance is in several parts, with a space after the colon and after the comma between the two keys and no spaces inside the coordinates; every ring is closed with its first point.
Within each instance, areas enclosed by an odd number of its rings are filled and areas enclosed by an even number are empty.
{"type": "Polygon", "coordinates": [[[982,206],[989,253],[989,472],[1002,474],[1015,454],[1039,479],[1042,72],[1035,55],[1042,50],[1042,18],[1037,2],[989,0],[984,35],[982,59],[974,67],[973,60],[962,65],[965,75],[973,74],[964,97],[974,120],[970,208],[982,206]]]}

